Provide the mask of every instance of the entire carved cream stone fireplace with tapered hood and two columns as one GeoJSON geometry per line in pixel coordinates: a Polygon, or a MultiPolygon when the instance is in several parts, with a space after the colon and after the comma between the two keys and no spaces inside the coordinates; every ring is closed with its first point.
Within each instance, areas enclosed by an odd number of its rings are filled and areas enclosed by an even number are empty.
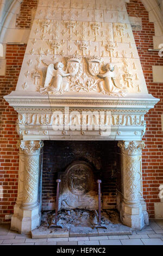
{"type": "MultiPolygon", "coordinates": [[[[16,91],[5,96],[18,112],[20,136],[11,229],[23,233],[40,225],[43,141],[117,142],[121,221],[133,229],[148,224],[142,137],[144,116],[159,100],[148,94],[126,2],[39,1],[16,91]]],[[[61,178],[66,180],[62,194],[68,187],[64,198],[76,194],[76,207],[82,207],[89,197],[96,208],[92,167],[80,162],[67,168],[61,178]],[[74,176],[76,164],[81,170],[74,176]],[[87,179],[91,186],[83,186],[87,179]]],[[[64,207],[61,197],[60,205],[64,207]]]]}

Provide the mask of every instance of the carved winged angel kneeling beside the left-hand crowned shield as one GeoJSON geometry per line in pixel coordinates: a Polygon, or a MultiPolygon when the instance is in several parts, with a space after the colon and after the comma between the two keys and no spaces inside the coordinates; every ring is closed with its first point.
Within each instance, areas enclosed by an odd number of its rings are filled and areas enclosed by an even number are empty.
{"type": "Polygon", "coordinates": [[[45,85],[44,88],[40,90],[40,92],[49,94],[61,94],[68,90],[68,83],[63,84],[62,77],[70,76],[70,74],[67,74],[66,71],[63,70],[63,68],[64,64],[62,64],[61,62],[57,62],[54,65],[48,65],[45,85]]]}

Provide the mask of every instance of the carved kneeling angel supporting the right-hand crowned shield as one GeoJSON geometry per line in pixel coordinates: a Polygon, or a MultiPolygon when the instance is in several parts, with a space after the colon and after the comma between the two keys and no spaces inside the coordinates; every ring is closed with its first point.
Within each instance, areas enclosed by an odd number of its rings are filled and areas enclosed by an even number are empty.
{"type": "Polygon", "coordinates": [[[104,78],[104,81],[99,82],[99,89],[104,94],[122,93],[120,78],[118,76],[117,66],[111,66],[109,63],[105,65],[105,72],[98,74],[99,77],[104,78]]]}

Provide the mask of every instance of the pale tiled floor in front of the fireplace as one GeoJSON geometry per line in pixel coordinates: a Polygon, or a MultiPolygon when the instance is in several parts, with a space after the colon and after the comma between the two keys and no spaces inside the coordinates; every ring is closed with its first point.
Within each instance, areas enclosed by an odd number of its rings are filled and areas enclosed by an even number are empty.
{"type": "Polygon", "coordinates": [[[149,221],[149,226],[133,235],[61,237],[31,239],[9,230],[8,224],[0,225],[0,245],[163,245],[163,220],[149,221]]]}

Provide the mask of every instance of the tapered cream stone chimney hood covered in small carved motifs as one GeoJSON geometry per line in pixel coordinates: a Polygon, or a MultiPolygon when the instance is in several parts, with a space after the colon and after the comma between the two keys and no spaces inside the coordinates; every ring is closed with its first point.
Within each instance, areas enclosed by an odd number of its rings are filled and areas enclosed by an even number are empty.
{"type": "MultiPolygon", "coordinates": [[[[95,0],[93,2],[81,0],[77,1],[77,4],[74,4],[74,1],[71,3],[71,1],[62,2],[61,0],[57,4],[47,0],[40,2],[27,46],[26,64],[23,64],[29,65],[30,76],[26,73],[27,68],[23,68],[24,78],[20,79],[19,87],[22,89],[24,82],[27,82],[26,91],[36,90],[52,95],[65,92],[85,92],[123,96],[125,90],[127,93],[140,93],[144,86],[142,84],[143,74],[140,74],[140,63],[137,62],[139,56],[125,4],[121,1],[118,1],[120,4],[110,1],[107,3],[103,0],[98,3],[95,0]],[[40,47],[42,50],[38,56],[40,47]],[[127,61],[129,60],[126,64],[120,59],[123,57],[123,51],[126,51],[125,58],[127,61]],[[76,64],[74,62],[70,64],[67,61],[70,54],[71,57],[73,54],[79,55],[82,59],[76,64]],[[94,54],[97,58],[101,58],[100,63],[89,62],[87,66],[85,58],[91,58],[94,54]],[[49,64],[61,62],[64,64],[62,71],[69,70],[69,74],[73,75],[68,76],[67,74],[66,77],[62,75],[62,82],[58,82],[62,86],[57,86],[59,89],[55,90],[49,87],[49,90],[44,90],[42,87],[45,86],[46,71],[41,65],[42,59],[50,62],[52,60],[52,63],[49,64]],[[121,64],[118,64],[118,69],[122,77],[117,74],[115,64],[114,71],[104,70],[106,64],[112,62],[121,64]],[[137,70],[130,70],[130,65],[137,70]],[[72,71],[71,68],[75,70],[72,71]],[[99,69],[98,74],[97,70],[95,71],[96,68],[99,69]],[[36,70],[40,72],[41,78],[39,75],[32,75],[36,70]],[[104,71],[108,71],[108,73],[104,74],[104,71]],[[75,73],[77,74],[74,75],[75,73]],[[106,77],[101,77],[103,75],[106,77]],[[116,77],[117,75],[118,77],[116,77]]],[[[51,73],[48,70],[47,74],[51,73]]],[[[55,76],[52,80],[55,80],[55,76]]]]}

